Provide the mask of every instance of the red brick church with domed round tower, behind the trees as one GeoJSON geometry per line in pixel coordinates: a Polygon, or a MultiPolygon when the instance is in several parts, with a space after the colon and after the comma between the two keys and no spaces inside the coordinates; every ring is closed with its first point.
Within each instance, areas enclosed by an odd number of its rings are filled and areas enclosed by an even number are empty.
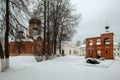
{"type": "Polygon", "coordinates": [[[34,54],[42,53],[41,38],[41,22],[39,19],[33,18],[29,21],[29,35],[23,35],[23,31],[19,31],[18,40],[9,43],[10,55],[34,54]]]}

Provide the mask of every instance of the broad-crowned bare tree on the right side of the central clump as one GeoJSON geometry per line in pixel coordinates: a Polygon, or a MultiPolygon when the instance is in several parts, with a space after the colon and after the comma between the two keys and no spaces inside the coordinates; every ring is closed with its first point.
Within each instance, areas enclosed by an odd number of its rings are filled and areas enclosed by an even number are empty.
{"type": "MultiPolygon", "coordinates": [[[[70,40],[75,33],[75,26],[78,25],[80,15],[73,14],[75,11],[70,0],[56,0],[51,4],[51,21],[53,24],[53,46],[56,54],[57,42],[61,48],[61,40],[70,40]]],[[[60,50],[61,51],[61,50],[60,50]]]]}

